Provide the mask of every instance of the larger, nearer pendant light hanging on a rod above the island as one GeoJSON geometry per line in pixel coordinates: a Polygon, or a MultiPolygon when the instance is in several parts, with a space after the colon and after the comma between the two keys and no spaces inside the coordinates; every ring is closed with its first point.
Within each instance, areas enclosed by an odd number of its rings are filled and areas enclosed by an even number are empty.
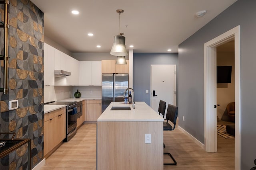
{"type": "MultiPolygon", "coordinates": [[[[110,51],[111,55],[115,56],[126,56],[128,53],[126,52],[125,47],[125,37],[123,36],[124,33],[120,33],[120,15],[124,12],[124,10],[116,10],[117,13],[119,13],[119,35],[116,35],[114,37],[114,44],[112,46],[112,49],[110,51]]],[[[125,58],[124,58],[125,59],[125,58]]]]}

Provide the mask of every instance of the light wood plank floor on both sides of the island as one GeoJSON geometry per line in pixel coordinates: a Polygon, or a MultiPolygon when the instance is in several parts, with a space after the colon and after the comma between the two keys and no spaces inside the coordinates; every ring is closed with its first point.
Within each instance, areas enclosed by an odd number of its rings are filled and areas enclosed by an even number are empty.
{"type": "MultiPolygon", "coordinates": [[[[164,170],[234,170],[234,139],[217,137],[218,152],[210,153],[178,128],[164,131],[164,152],[170,152],[177,161],[176,166],[164,166],[164,170]]],[[[164,162],[171,161],[164,156],[164,162]]],[[[80,127],[68,143],[63,143],[46,159],[41,170],[96,170],[96,124],[80,127]]]]}

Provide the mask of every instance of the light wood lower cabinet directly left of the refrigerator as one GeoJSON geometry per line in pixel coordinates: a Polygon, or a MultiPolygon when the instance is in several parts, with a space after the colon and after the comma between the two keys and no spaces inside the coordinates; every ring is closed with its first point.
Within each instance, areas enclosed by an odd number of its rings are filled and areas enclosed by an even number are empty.
{"type": "Polygon", "coordinates": [[[86,121],[97,121],[101,115],[101,100],[87,100],[86,106],[86,121]]]}

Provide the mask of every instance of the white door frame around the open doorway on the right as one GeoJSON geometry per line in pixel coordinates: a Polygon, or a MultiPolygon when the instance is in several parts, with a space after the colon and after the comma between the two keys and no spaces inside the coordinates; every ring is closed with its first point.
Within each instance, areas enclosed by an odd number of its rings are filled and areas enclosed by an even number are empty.
{"type": "Polygon", "coordinates": [[[216,47],[231,39],[235,41],[235,169],[240,169],[240,25],[204,43],[204,149],[217,152],[216,47]]]}

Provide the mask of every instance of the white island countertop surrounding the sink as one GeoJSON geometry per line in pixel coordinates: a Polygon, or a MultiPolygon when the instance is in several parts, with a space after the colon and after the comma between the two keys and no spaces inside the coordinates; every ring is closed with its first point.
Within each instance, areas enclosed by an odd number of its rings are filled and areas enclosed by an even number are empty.
{"type": "Polygon", "coordinates": [[[131,104],[112,102],[100,115],[98,121],[164,121],[164,119],[145,102],[135,102],[135,109],[131,104]],[[112,106],[130,106],[131,110],[110,110],[112,106]]]}

